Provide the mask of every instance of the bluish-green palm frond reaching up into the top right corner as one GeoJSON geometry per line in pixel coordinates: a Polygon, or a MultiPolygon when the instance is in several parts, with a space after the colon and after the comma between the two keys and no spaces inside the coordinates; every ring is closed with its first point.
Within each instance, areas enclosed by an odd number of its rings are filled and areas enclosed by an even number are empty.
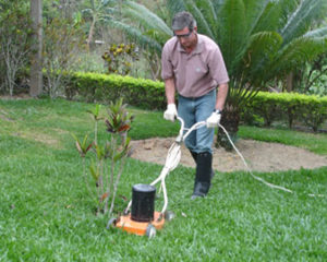
{"type": "MultiPolygon", "coordinates": [[[[281,29],[281,35],[284,39],[284,45],[293,38],[302,36],[308,26],[322,12],[326,12],[325,0],[303,0],[298,5],[298,9],[291,14],[286,26],[281,29]]],[[[326,13],[325,13],[326,14],[326,13]]]]}

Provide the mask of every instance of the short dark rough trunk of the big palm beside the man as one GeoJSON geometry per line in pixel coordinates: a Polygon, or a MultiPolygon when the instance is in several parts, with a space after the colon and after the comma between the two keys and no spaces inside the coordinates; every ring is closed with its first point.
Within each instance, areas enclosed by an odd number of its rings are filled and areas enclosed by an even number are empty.
{"type": "MultiPolygon", "coordinates": [[[[233,143],[237,141],[239,123],[240,123],[239,110],[232,108],[223,110],[220,124],[227,130],[233,143]]],[[[225,131],[221,128],[218,129],[218,135],[216,141],[216,147],[219,146],[222,146],[227,151],[233,150],[228,136],[226,135],[225,131]]]]}

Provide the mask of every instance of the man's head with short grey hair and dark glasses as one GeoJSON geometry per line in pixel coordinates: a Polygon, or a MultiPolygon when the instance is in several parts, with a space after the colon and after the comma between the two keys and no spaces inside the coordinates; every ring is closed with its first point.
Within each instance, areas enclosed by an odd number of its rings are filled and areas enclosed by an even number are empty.
{"type": "Polygon", "coordinates": [[[196,46],[196,21],[189,12],[179,12],[172,20],[172,31],[185,49],[196,46]]]}

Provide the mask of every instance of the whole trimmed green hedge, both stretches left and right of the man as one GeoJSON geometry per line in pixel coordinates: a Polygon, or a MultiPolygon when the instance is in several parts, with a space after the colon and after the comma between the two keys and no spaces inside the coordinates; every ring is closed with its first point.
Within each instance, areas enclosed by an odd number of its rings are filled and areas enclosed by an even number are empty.
{"type": "MultiPolygon", "coordinates": [[[[117,74],[74,73],[65,93],[70,99],[78,96],[86,102],[108,103],[123,97],[124,103],[131,106],[166,108],[162,82],[117,74]]],[[[265,126],[282,119],[292,128],[296,120],[317,131],[327,119],[327,96],[259,92],[242,108],[243,121],[251,122],[255,116],[263,118],[265,126]]]]}

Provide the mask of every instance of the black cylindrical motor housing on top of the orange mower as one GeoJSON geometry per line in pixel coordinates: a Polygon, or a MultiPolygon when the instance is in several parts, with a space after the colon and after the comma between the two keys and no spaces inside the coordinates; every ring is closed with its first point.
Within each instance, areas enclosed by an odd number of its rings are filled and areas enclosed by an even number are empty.
{"type": "Polygon", "coordinates": [[[150,222],[155,215],[156,188],[150,184],[137,183],[132,190],[132,221],[150,222]]]}

